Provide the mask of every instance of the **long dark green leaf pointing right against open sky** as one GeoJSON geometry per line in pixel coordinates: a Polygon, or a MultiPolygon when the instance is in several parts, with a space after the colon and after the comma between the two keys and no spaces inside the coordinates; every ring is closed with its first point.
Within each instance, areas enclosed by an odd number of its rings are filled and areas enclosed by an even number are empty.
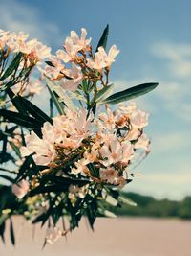
{"type": "Polygon", "coordinates": [[[105,100],[101,101],[100,104],[118,104],[121,102],[125,102],[131,99],[134,99],[140,95],[148,93],[154,90],[159,83],[157,82],[150,82],[150,83],[143,83],[137,86],[128,88],[126,90],[117,92],[106,98],[105,100]]]}

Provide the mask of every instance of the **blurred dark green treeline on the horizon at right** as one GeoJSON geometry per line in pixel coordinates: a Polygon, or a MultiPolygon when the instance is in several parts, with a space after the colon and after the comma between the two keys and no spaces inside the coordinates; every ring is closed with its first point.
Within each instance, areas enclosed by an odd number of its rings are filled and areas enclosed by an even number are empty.
{"type": "Polygon", "coordinates": [[[108,210],[117,216],[148,216],[148,217],[177,217],[181,219],[191,219],[191,196],[181,201],[169,199],[155,199],[135,193],[123,193],[125,198],[129,198],[137,203],[131,206],[122,203],[121,207],[108,206],[108,210]]]}

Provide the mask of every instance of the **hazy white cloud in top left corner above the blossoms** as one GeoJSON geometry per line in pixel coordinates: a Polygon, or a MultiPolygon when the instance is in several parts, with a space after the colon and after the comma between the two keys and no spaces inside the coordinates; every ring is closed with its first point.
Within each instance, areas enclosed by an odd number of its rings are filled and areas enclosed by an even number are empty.
{"type": "Polygon", "coordinates": [[[59,28],[43,20],[37,8],[17,0],[1,0],[0,26],[11,32],[24,31],[46,44],[51,44],[53,38],[56,46],[61,45],[63,39],[59,28]]]}

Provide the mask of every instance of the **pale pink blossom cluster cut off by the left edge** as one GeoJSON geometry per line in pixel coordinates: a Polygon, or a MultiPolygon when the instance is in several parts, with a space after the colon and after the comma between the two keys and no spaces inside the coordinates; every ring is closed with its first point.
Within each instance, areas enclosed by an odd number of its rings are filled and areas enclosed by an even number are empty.
{"type": "Polygon", "coordinates": [[[0,31],[0,92],[16,85],[19,92],[32,87],[29,76],[33,68],[51,56],[50,47],[28,37],[23,32],[0,31]]]}

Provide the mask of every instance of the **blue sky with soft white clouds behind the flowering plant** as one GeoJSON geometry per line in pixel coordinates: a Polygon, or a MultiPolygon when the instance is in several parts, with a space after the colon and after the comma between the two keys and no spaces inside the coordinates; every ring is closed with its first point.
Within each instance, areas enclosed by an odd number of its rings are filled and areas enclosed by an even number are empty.
{"type": "Polygon", "coordinates": [[[111,73],[116,90],[159,81],[137,101],[151,114],[152,152],[129,190],[181,198],[191,195],[190,10],[189,0],[0,0],[0,28],[30,33],[55,51],[82,27],[96,45],[109,23],[109,46],[120,49],[111,73]]]}

